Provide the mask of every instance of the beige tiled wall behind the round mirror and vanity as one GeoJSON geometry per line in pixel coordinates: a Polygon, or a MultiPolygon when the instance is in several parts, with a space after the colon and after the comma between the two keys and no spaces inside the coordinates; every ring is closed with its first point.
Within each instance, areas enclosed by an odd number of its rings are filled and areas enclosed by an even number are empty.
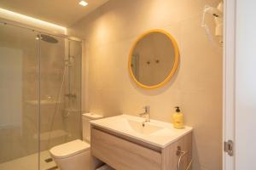
{"type": "MultiPolygon", "coordinates": [[[[172,122],[181,106],[187,125],[195,128],[193,167],[222,167],[222,48],[201,28],[202,9],[217,0],[110,0],[70,28],[84,37],[84,111],[114,116],[137,115],[150,105],[151,116],[172,122]],[[160,28],[177,40],[180,64],[164,88],[138,88],[127,61],[132,43],[144,31],[160,28]],[[86,86],[85,86],[86,85],[86,86]],[[86,88],[86,89],[85,89],[86,88]]],[[[212,17],[207,15],[212,26],[212,17]]]]}

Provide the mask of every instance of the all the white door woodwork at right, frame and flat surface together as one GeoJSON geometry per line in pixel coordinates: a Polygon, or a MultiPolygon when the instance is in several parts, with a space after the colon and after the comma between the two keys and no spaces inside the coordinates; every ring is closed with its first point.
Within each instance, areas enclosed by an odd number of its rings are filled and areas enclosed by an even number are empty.
{"type": "Polygon", "coordinates": [[[256,1],[225,1],[224,170],[256,169],[256,1]]]}

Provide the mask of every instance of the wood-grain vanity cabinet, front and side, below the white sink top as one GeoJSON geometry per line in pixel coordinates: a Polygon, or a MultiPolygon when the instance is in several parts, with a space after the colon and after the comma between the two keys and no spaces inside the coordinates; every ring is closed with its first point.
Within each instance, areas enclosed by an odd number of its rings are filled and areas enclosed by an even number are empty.
{"type": "MultiPolygon", "coordinates": [[[[191,160],[191,138],[188,133],[165,148],[143,143],[102,127],[91,127],[91,155],[118,170],[177,170],[177,147],[188,151],[183,156],[181,170],[191,160]]],[[[95,169],[95,168],[93,168],[95,169]]]]}

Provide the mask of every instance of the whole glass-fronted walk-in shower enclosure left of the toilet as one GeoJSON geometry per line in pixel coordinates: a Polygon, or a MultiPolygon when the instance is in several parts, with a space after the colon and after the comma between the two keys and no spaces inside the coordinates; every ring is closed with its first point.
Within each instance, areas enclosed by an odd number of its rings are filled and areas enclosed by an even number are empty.
{"type": "Polygon", "coordinates": [[[0,22],[0,170],[53,170],[48,150],[81,139],[82,45],[0,22]]]}

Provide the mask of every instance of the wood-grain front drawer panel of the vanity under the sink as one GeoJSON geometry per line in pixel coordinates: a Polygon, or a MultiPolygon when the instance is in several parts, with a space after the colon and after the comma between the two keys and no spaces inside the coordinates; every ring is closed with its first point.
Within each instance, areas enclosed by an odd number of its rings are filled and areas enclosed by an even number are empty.
{"type": "Polygon", "coordinates": [[[160,170],[161,154],[91,128],[91,154],[118,170],[160,170]]]}

